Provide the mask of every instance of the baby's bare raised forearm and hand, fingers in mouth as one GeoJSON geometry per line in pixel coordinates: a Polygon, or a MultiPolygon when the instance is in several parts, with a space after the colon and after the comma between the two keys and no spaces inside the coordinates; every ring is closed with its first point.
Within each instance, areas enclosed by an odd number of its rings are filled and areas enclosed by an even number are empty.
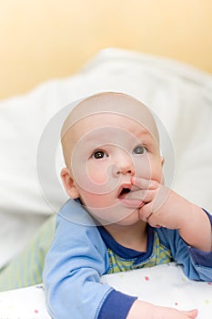
{"type": "Polygon", "coordinates": [[[137,195],[140,191],[140,198],[146,201],[140,209],[141,220],[153,227],[177,229],[188,245],[212,251],[211,223],[205,211],[155,180],[146,183],[136,178],[134,185],[139,188],[137,195]]]}

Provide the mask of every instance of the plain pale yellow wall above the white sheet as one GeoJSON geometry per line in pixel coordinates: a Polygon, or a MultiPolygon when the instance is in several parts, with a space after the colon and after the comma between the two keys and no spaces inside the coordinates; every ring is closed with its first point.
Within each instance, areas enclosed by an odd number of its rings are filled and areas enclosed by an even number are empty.
{"type": "Polygon", "coordinates": [[[212,1],[6,0],[0,39],[0,98],[70,76],[107,46],[212,72],[212,1]]]}

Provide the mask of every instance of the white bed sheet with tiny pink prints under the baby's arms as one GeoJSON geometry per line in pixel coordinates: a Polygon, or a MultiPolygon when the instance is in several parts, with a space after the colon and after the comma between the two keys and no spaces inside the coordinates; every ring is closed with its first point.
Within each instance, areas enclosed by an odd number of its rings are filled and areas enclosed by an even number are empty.
{"type": "MultiPolygon", "coordinates": [[[[157,305],[184,310],[197,308],[197,319],[211,319],[212,283],[188,280],[174,262],[104,275],[101,283],[157,305]]],[[[43,284],[0,293],[0,319],[50,319],[43,284]]]]}

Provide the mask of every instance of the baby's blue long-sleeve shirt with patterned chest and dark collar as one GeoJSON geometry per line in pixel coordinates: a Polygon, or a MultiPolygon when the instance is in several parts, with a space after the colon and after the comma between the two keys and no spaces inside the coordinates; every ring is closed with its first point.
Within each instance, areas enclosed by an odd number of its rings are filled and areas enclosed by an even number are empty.
{"type": "Polygon", "coordinates": [[[136,296],[117,292],[100,277],[116,267],[126,271],[171,260],[183,266],[188,278],[212,281],[212,252],[188,246],[176,230],[149,226],[147,250],[136,252],[119,245],[78,201],[69,200],[57,215],[45,257],[48,312],[54,319],[125,319],[136,296]]]}

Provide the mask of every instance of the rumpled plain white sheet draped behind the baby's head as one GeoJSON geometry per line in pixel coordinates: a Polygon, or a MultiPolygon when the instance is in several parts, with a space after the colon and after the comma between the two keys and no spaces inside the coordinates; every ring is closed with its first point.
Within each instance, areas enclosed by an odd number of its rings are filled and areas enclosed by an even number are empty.
{"type": "Polygon", "coordinates": [[[64,203],[51,176],[45,176],[50,199],[37,182],[36,149],[45,125],[73,100],[107,90],[128,93],[156,112],[175,146],[173,188],[212,211],[212,77],[171,60],[106,49],[76,76],[0,103],[0,268],[64,203]]]}

